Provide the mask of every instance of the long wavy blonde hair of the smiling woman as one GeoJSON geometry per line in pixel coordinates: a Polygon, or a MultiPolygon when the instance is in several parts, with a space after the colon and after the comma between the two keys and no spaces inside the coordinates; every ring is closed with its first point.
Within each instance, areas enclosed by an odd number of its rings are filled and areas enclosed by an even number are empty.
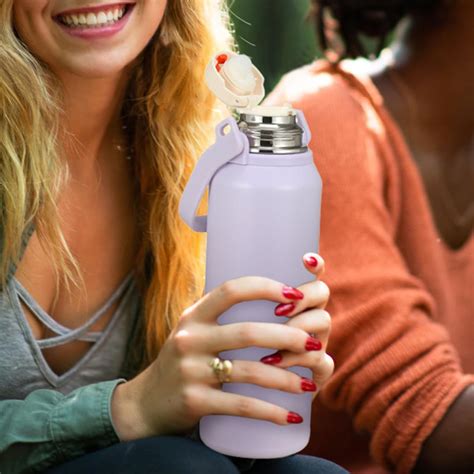
{"type": "MultiPolygon", "coordinates": [[[[56,206],[68,177],[58,140],[60,84],[15,33],[12,3],[0,4],[0,280],[5,284],[18,263],[22,235],[34,222],[58,281],[79,287],[81,271],[56,206]]],[[[203,74],[213,53],[235,49],[229,32],[220,0],[168,0],[159,29],[137,58],[122,106],[137,150],[142,368],[157,356],[183,309],[202,295],[205,234],[183,223],[178,206],[222,117],[203,74]]],[[[203,201],[201,212],[205,207],[203,201]]]]}

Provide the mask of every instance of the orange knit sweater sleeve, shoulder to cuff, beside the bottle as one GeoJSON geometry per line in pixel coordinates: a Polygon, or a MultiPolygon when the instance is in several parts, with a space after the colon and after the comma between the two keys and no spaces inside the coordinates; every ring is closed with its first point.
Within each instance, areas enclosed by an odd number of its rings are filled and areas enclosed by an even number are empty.
{"type": "Polygon", "coordinates": [[[433,319],[432,295],[397,246],[396,164],[387,168],[370,115],[329,73],[288,74],[266,100],[285,102],[306,116],[323,181],[320,253],[336,370],[321,400],[371,434],[378,463],[410,472],[474,378],[462,373],[446,329],[433,319]]]}

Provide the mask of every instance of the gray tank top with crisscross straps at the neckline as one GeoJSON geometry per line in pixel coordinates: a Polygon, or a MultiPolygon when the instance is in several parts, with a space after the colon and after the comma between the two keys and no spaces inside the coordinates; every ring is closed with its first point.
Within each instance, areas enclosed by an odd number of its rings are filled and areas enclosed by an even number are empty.
{"type": "Polygon", "coordinates": [[[0,400],[24,399],[33,390],[42,388],[68,394],[83,385],[120,377],[138,314],[139,293],[132,273],[85,324],[75,329],[56,322],[12,276],[0,291],[0,400]],[[106,328],[101,332],[89,331],[119,300],[106,328]],[[20,302],[55,335],[35,339],[20,302]],[[73,367],[58,375],[48,365],[42,350],[73,340],[94,344],[73,367]]]}

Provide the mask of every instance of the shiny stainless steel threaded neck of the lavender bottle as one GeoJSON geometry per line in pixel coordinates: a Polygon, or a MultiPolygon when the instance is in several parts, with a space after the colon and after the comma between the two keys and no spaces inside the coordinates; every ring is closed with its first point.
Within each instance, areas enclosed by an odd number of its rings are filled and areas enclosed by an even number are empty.
{"type": "Polygon", "coordinates": [[[270,117],[242,113],[240,130],[249,139],[250,153],[289,154],[303,153],[303,130],[295,115],[270,117]]]}

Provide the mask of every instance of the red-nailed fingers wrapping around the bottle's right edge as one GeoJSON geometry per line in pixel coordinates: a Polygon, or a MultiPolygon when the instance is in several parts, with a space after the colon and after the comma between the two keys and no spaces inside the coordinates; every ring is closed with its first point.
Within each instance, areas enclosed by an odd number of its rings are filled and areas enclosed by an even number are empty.
{"type": "MultiPolygon", "coordinates": [[[[323,274],[324,260],[318,254],[305,254],[303,262],[307,270],[313,273],[316,278],[323,274]]],[[[289,304],[280,304],[275,311],[276,313],[283,313],[281,316],[290,318],[286,322],[287,326],[303,329],[315,336],[321,342],[321,350],[305,353],[277,351],[261,360],[266,364],[284,369],[294,365],[310,368],[313,371],[313,381],[317,387],[317,391],[313,393],[314,400],[317,393],[334,372],[334,361],[326,353],[331,330],[331,316],[327,311],[324,311],[324,308],[329,299],[329,288],[319,279],[297,288],[304,293],[305,297],[289,304]]]]}

